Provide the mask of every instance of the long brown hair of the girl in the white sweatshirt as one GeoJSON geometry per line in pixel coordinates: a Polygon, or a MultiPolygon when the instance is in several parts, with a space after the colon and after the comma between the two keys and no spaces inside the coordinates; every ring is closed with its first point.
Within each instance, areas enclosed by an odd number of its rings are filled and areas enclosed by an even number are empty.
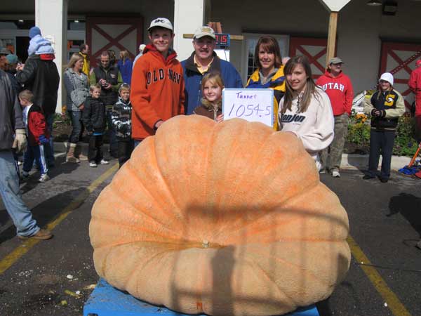
{"type": "MultiPolygon", "coordinates": [[[[288,62],[285,65],[285,68],[283,68],[283,73],[285,74],[285,77],[292,74],[295,70],[295,67],[297,67],[298,65],[301,65],[304,68],[305,74],[307,75],[305,91],[300,101],[300,108],[298,109],[298,113],[302,113],[307,111],[312,97],[318,98],[319,93],[316,90],[316,84],[314,83],[312,78],[312,68],[310,67],[310,62],[308,58],[303,55],[297,55],[288,60],[288,62]]],[[[294,94],[295,91],[288,83],[288,79],[286,79],[286,91],[285,96],[283,98],[282,113],[285,113],[287,109],[291,110],[294,94]]]]}

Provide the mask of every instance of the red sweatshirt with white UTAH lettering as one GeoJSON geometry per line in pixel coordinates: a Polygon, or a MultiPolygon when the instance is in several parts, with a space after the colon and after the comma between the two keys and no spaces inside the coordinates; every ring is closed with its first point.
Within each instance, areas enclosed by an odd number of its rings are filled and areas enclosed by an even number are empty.
{"type": "Polygon", "coordinates": [[[333,115],[342,115],[345,112],[351,114],[352,99],[354,99],[354,90],[352,89],[349,77],[340,72],[338,77],[333,77],[326,71],[317,79],[316,84],[321,86],[328,94],[332,104],[333,115]]]}

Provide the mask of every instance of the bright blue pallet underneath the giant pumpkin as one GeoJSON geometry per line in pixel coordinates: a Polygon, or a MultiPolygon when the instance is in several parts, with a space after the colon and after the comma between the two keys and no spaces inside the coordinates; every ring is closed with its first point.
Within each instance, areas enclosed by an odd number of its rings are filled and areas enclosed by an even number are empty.
{"type": "MultiPolygon", "coordinates": [[[[88,301],[83,306],[83,316],[191,316],[151,305],[130,294],[115,289],[100,279],[88,301]]],[[[204,314],[199,316],[206,316],[204,314]]],[[[288,316],[319,316],[316,306],[300,308],[288,316]]]]}

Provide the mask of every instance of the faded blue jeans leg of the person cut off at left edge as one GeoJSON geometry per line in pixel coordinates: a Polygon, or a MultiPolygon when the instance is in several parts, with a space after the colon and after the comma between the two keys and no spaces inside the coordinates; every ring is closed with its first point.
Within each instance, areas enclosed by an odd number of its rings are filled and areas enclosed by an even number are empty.
{"type": "Polygon", "coordinates": [[[39,231],[31,211],[19,192],[18,166],[10,150],[0,150],[0,194],[4,206],[20,236],[32,236],[39,231]]]}

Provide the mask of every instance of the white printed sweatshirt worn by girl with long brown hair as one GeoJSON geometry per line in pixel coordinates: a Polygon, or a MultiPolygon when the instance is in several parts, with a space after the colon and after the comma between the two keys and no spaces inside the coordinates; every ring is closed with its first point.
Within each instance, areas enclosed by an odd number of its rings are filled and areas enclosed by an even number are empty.
{"type": "Polygon", "coordinates": [[[305,150],[317,162],[318,152],[327,148],[333,140],[335,121],[326,93],[316,88],[306,112],[299,112],[298,96],[293,98],[291,110],[282,113],[283,101],[279,103],[278,126],[280,131],[290,131],[302,140],[305,150]]]}

